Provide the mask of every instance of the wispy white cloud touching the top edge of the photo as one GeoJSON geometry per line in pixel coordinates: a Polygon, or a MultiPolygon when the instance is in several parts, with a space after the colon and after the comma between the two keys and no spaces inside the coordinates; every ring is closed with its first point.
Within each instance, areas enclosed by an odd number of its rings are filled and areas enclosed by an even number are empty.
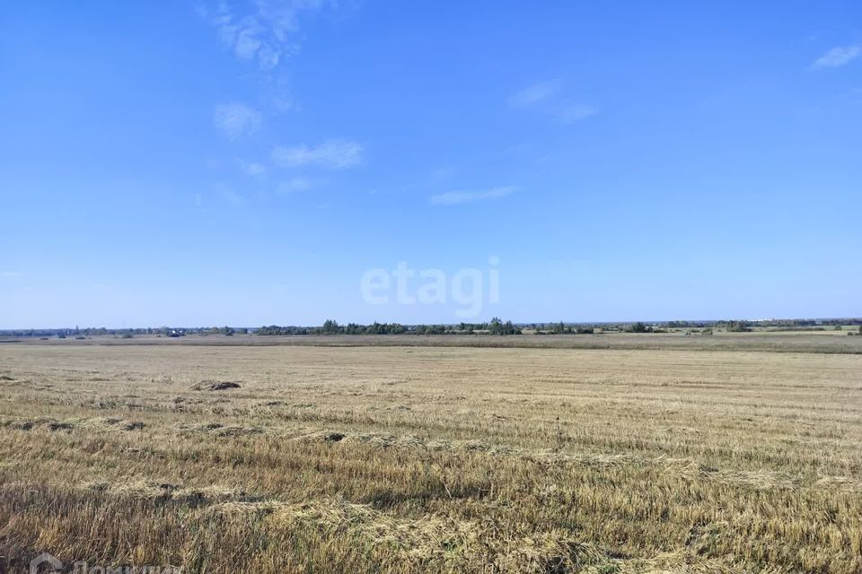
{"type": "Polygon", "coordinates": [[[272,70],[300,48],[299,20],[334,4],[327,0],[255,0],[246,10],[233,10],[225,2],[215,8],[198,7],[198,14],[218,31],[225,46],[243,60],[254,60],[272,70]]]}

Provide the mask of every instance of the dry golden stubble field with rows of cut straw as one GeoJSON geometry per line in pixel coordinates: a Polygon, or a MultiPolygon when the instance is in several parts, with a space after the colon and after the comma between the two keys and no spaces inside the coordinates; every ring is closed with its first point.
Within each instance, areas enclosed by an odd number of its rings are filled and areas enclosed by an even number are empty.
{"type": "Polygon", "coordinates": [[[15,343],[0,399],[13,569],[862,571],[859,354],[15,343]]]}

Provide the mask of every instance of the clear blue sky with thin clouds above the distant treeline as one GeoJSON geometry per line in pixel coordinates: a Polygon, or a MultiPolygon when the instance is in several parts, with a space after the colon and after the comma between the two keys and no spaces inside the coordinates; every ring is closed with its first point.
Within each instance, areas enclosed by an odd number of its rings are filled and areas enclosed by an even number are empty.
{"type": "Polygon", "coordinates": [[[858,2],[13,1],[0,86],[0,328],[862,315],[858,2]]]}

